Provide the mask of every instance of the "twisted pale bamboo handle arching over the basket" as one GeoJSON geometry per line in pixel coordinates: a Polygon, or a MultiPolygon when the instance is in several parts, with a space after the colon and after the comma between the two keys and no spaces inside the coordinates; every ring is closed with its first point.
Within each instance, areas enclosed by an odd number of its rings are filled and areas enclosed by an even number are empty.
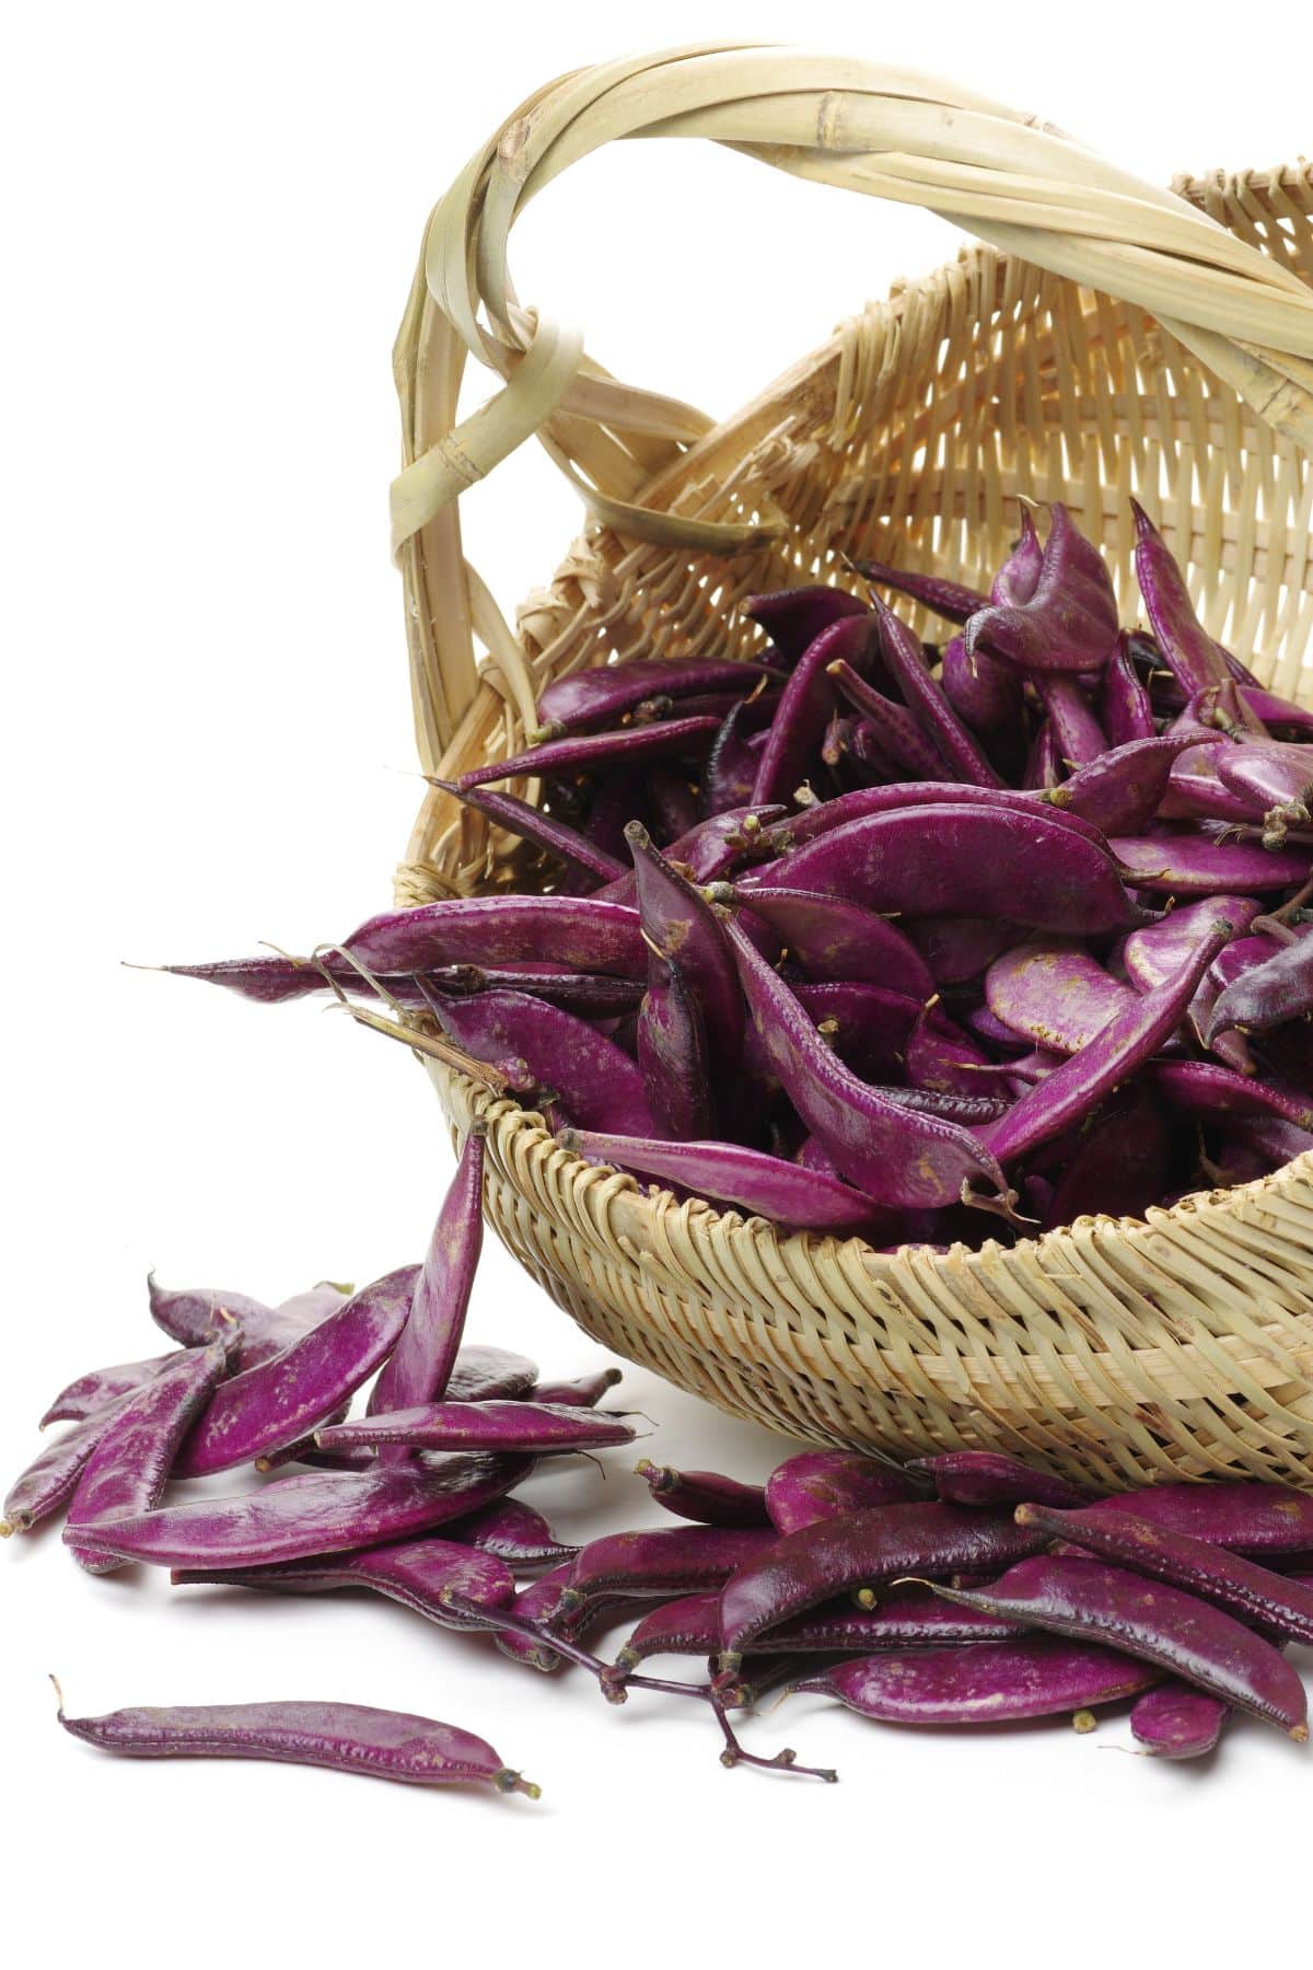
{"type": "Polygon", "coordinates": [[[1313,451],[1313,294],[1185,199],[1055,126],[933,77],[776,43],[705,41],[577,69],[522,102],[435,207],[394,351],[404,471],[392,540],[425,772],[437,772],[474,699],[474,632],[522,723],[533,723],[518,644],[465,563],[457,520],[459,494],[526,437],[537,435],[591,516],[626,538],[736,554],[778,532],[646,508],[642,485],[713,420],[618,382],[577,331],[516,297],[506,248],[520,211],[575,160],[632,136],[703,136],[799,177],[923,205],[1020,260],[1138,303],[1313,451]],[[457,426],[469,355],[506,386],[457,426]]]}

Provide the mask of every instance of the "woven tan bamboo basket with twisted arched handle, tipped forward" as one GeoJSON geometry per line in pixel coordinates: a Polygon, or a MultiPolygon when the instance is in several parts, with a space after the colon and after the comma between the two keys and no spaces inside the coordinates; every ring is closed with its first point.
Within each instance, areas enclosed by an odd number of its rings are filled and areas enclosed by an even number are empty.
{"type": "MultiPolygon", "coordinates": [[[[843,554],[988,585],[1018,494],[1069,502],[1128,623],[1138,494],[1207,626],[1313,701],[1311,286],[1307,164],[1161,191],[969,91],[801,49],[699,45],[549,83],[435,209],[396,347],[394,548],[425,770],[518,751],[549,678],[754,654],[736,601],[843,581],[843,554]],[[618,382],[510,282],[524,203],[624,136],[713,138],[931,207],[976,242],[713,426],[618,382]],[[457,426],[470,353],[504,388],[457,426]],[[589,522],[512,632],[465,561],[457,496],[531,433],[589,522]]],[[[398,898],[522,879],[514,843],[433,792],[398,898]]],[[[486,1119],[488,1215],[533,1279],[606,1347],[734,1414],[894,1454],[998,1448],[1112,1489],[1313,1485],[1313,1156],[1146,1221],[884,1257],[640,1190],[427,1068],[457,1133],[486,1119]]]]}

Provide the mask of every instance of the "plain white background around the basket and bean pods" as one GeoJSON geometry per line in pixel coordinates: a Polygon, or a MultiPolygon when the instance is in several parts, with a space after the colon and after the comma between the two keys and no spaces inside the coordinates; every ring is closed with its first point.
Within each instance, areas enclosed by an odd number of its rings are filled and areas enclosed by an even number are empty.
{"type": "MultiPolygon", "coordinates": [[[[386,550],[388,357],[427,209],[472,148],[567,67],[720,32],[943,69],[1154,179],[1307,148],[1303,6],[1250,12],[1250,32],[1234,8],[1167,12],[10,10],[10,1466],[73,1373],[154,1351],[150,1265],[266,1298],[364,1280],[421,1253],[447,1182],[406,1052],[120,959],[305,948],[388,898],[421,790],[386,550]]],[[[953,248],[927,215],[665,144],[555,183],[512,266],[600,361],[724,412],[953,248]]],[[[480,370],[474,400],[486,388],[480,370]]],[[[508,613],[579,524],[531,449],[465,516],[508,613]]],[[[553,1373],[598,1359],[500,1249],[470,1332],[553,1373]]],[[[622,1393],[659,1422],[642,1448],[663,1460],[764,1476],[783,1454],[648,1375],[622,1393]]],[[[530,1495],[577,1535],[656,1519],[632,1458],[606,1462],[606,1483],[581,1464],[530,1495]]],[[[150,1966],[1307,1952],[1313,1765],[1258,1726],[1207,1771],[1110,1753],[1124,1722],[909,1736],[795,1698],[748,1728],[837,1763],[844,1783],[823,1789],[722,1771],[701,1712],[614,1714],[579,1676],[535,1678],[384,1604],[93,1580],[57,1531],[12,1541],[0,1574],[10,1960],[30,1960],[24,1935],[57,1960],[130,1948],[150,1966]],[[423,1710],[490,1736],[543,1799],[118,1763],[61,1738],[51,1669],[73,1710],[291,1694],[423,1710]]]]}

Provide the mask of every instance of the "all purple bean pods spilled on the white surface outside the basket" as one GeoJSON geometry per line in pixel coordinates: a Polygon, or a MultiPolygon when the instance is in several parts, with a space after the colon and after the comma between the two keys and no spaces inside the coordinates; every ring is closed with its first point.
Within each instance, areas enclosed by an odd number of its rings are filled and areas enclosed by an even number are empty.
{"type": "MultiPolygon", "coordinates": [[[[1098,1706],[1134,1700],[1134,1738],[1165,1757],[1213,1749],[1232,1710],[1307,1740],[1283,1649],[1313,1643],[1313,1495],[1283,1485],[1098,1497],[972,1450],[902,1468],[805,1450],[764,1485],[642,1460],[650,1497],[681,1523],[557,1541],[512,1493],[539,1458],[614,1448],[634,1428],[596,1407],[612,1367],[551,1383],[522,1355],[463,1346],[482,1166],[474,1129],[423,1265],[360,1292],[321,1284],[270,1308],[152,1279],[152,1316],[177,1346],[55,1397],[41,1420],[71,1428],[12,1485],[4,1533],[65,1511],[65,1544],[93,1574],[148,1562],[179,1588],[370,1590],[439,1627],[486,1629],[528,1669],[581,1665],[610,1702],[693,1698],[726,1765],[835,1777],[740,1743],[730,1712],[780,1684],[892,1724],[1069,1714],[1089,1728],[1098,1706]],[[264,1481],[165,1497],[238,1466],[264,1481]],[[618,1619],[636,1625],[604,1661],[587,1637],[618,1619]],[[652,1676],[663,1655],[707,1673],[652,1676]]],[[[268,1757],[537,1797],[486,1740],[360,1704],[67,1718],[61,1698],[59,1716],[136,1757],[268,1757]]]]}

